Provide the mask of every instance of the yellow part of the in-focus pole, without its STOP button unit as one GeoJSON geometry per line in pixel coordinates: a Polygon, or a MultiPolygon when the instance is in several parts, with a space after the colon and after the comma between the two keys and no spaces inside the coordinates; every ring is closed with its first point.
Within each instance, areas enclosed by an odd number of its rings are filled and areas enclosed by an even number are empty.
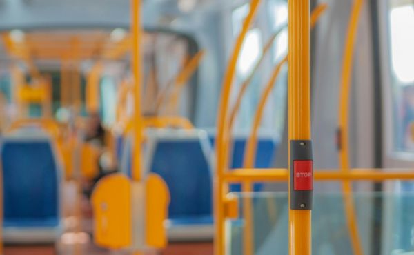
{"type": "MultiPolygon", "coordinates": [[[[288,139],[311,140],[310,0],[288,0],[288,139]]],[[[290,146],[289,143],[289,147],[290,146]]],[[[289,148],[289,169],[293,155],[289,148]]],[[[289,204],[293,192],[289,175],[289,204]]],[[[311,210],[289,209],[289,254],[311,255],[311,210]]]]}

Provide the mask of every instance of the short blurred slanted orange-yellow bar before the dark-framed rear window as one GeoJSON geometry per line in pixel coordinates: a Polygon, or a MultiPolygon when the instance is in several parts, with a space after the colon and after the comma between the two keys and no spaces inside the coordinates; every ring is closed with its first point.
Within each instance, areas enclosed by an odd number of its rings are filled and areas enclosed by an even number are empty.
{"type": "Polygon", "coordinates": [[[161,90],[159,96],[157,97],[156,105],[155,105],[155,111],[159,113],[161,110],[161,106],[163,105],[164,101],[166,100],[166,97],[168,96],[168,92],[170,92],[171,87],[172,88],[172,95],[179,94],[179,91],[181,88],[187,83],[188,79],[193,75],[195,70],[197,70],[197,67],[199,66],[199,63],[201,62],[201,59],[203,59],[204,54],[206,52],[204,50],[200,50],[195,54],[187,63],[184,65],[184,67],[181,69],[181,71],[175,76],[172,81],[168,82],[167,85],[164,87],[163,90],[161,90]]]}

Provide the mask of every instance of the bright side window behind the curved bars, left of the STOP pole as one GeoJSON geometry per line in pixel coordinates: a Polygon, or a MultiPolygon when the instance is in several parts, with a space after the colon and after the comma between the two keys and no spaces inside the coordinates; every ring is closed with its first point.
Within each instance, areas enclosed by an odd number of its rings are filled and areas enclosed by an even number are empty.
{"type": "MultiPolygon", "coordinates": [[[[281,61],[288,52],[288,6],[286,1],[268,0],[265,1],[266,12],[264,15],[255,17],[250,30],[246,34],[239,60],[237,62],[237,72],[235,87],[232,91],[232,99],[235,100],[242,84],[249,78],[251,72],[255,70],[258,61],[261,61],[257,72],[251,79],[251,84],[246,90],[242,99],[239,114],[237,115],[235,132],[242,134],[250,130],[258,102],[261,98],[263,89],[268,82],[273,67],[281,61]],[[273,47],[266,56],[262,56],[264,45],[268,43],[280,29],[286,27],[277,34],[273,41],[273,47]],[[262,59],[263,57],[263,59],[262,59]]],[[[231,14],[232,39],[235,40],[237,34],[242,30],[242,21],[246,18],[250,6],[248,3],[234,8],[231,14]]],[[[286,104],[286,74],[287,68],[283,67],[280,73],[266,108],[264,110],[263,121],[260,129],[264,132],[272,130],[274,134],[282,134],[284,128],[284,109],[286,104]]]]}

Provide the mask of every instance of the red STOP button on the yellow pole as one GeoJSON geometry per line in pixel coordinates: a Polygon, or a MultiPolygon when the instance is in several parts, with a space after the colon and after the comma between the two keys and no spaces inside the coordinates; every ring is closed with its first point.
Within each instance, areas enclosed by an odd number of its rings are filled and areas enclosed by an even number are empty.
{"type": "Polygon", "coordinates": [[[295,190],[313,190],[313,161],[293,161],[295,190]]]}

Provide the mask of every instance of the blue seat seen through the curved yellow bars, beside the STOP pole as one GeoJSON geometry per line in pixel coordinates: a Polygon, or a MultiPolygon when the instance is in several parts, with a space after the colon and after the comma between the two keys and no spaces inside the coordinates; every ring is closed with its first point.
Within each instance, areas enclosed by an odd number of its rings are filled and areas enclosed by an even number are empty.
{"type": "MultiPolygon", "coordinates": [[[[212,146],[215,145],[215,134],[209,132],[209,141],[212,146]]],[[[244,149],[246,147],[246,141],[248,137],[246,135],[236,135],[233,139],[233,158],[231,159],[231,167],[242,168],[244,162],[244,149]]],[[[257,153],[255,158],[255,168],[270,168],[273,163],[273,156],[277,150],[277,139],[269,132],[269,134],[261,133],[257,138],[257,153]]],[[[255,191],[262,190],[262,184],[256,183],[254,187],[255,191]]],[[[241,185],[230,185],[231,192],[240,192],[242,190],[241,185]]]]}

